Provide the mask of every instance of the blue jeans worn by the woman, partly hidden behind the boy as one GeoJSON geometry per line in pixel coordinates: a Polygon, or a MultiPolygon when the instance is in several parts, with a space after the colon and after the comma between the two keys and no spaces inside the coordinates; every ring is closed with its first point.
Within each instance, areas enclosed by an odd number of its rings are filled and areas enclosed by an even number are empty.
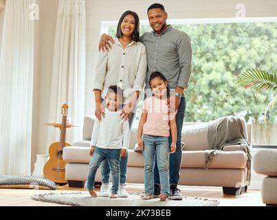
{"type": "MultiPolygon", "coordinates": [[[[131,114],[130,119],[129,119],[130,131],[131,131],[131,127],[132,127],[133,120],[134,120],[135,110],[136,110],[136,106],[134,108],[133,113],[131,114]]],[[[127,146],[127,147],[129,147],[129,146],[127,146]]],[[[126,183],[127,163],[128,163],[128,151],[126,153],[126,156],[121,157],[121,159],[120,159],[120,184],[126,183]]],[[[107,159],[104,160],[101,164],[101,175],[102,175],[102,184],[109,184],[110,168],[109,168],[107,159]]]]}

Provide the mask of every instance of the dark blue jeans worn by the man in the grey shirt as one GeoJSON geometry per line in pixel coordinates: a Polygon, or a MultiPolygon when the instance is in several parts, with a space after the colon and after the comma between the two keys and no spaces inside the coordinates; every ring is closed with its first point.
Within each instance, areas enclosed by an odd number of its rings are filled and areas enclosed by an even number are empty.
{"type": "MultiPolygon", "coordinates": [[[[180,178],[180,167],[181,167],[181,130],[183,129],[183,122],[186,112],[186,98],[181,98],[181,102],[178,107],[176,114],[176,125],[177,125],[177,140],[176,140],[176,151],[175,153],[170,153],[169,156],[169,183],[171,185],[177,186],[180,178]]],[[[169,137],[169,144],[171,144],[172,139],[169,137]]],[[[159,170],[157,168],[157,159],[155,159],[154,168],[154,182],[155,184],[160,184],[159,181],[159,170]]]]}

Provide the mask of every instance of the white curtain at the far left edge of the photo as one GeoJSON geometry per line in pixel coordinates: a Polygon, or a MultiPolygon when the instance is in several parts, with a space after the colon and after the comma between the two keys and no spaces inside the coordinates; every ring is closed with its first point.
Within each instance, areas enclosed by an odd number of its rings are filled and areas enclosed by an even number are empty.
{"type": "Polygon", "coordinates": [[[0,175],[30,175],[33,0],[7,0],[0,55],[0,175]]]}

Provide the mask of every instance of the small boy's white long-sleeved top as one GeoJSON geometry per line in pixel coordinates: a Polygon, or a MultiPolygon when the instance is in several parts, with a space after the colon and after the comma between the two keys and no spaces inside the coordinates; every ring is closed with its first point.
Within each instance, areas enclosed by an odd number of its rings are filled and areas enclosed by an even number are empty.
{"type": "Polygon", "coordinates": [[[122,120],[120,111],[105,109],[105,118],[95,120],[91,135],[91,146],[105,149],[129,148],[129,120],[122,120]],[[122,144],[123,141],[123,144],[122,144]]]}

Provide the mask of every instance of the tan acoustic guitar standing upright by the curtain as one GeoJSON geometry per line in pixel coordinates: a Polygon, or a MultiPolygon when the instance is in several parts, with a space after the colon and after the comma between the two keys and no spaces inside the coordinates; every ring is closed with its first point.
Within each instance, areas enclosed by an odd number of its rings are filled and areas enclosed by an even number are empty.
{"type": "Polygon", "coordinates": [[[60,126],[60,142],[55,142],[49,146],[50,158],[43,168],[43,175],[47,179],[54,181],[55,184],[63,186],[67,184],[67,179],[65,179],[66,163],[63,160],[63,148],[66,146],[71,146],[71,144],[65,143],[68,114],[67,104],[63,104],[61,113],[63,115],[63,120],[60,126]]]}

